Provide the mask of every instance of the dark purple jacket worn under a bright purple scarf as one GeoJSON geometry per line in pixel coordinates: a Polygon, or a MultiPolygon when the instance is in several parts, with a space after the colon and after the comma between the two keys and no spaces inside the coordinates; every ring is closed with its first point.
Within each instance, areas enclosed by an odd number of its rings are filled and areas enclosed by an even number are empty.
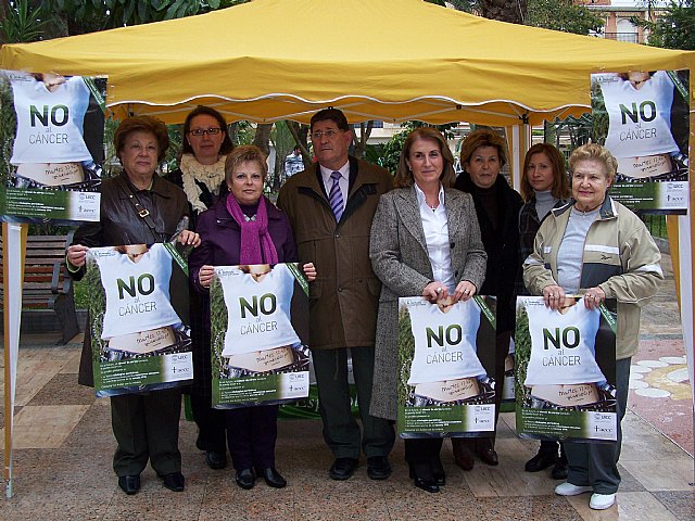
{"type": "MultiPolygon", "coordinates": [[[[278,252],[278,262],[296,262],[296,245],[287,215],[276,208],[268,199],[265,200],[265,207],[268,213],[268,231],[278,252]]],[[[237,266],[241,264],[239,262],[241,229],[227,211],[226,198],[200,214],[195,231],[200,234],[202,242],[188,257],[188,269],[195,289],[201,293],[207,293],[207,288],[202,288],[198,282],[198,272],[203,265],[237,266]]]]}

